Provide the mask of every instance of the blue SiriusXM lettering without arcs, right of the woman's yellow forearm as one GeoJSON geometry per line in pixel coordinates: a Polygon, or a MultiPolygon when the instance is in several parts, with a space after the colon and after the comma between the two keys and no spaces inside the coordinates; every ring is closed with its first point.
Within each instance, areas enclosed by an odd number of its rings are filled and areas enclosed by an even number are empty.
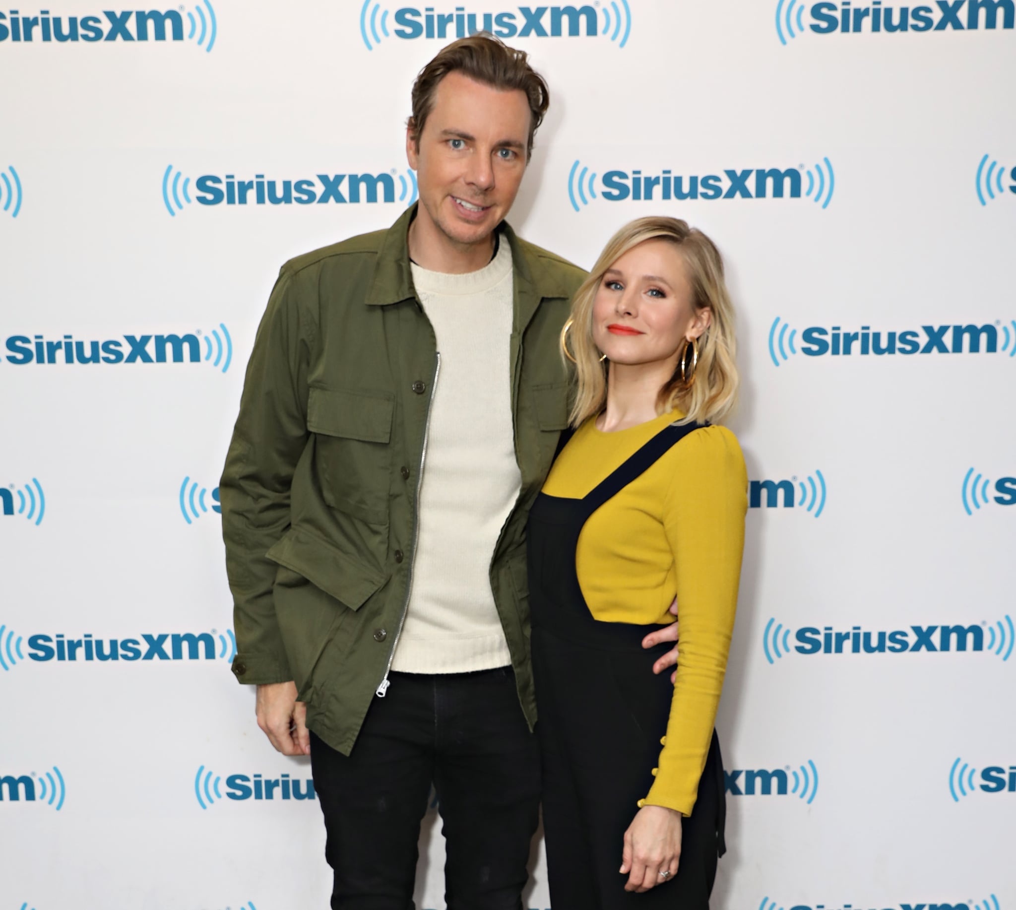
{"type": "Polygon", "coordinates": [[[848,632],[826,626],[805,626],[797,631],[799,654],[903,654],[919,651],[985,650],[985,630],[980,626],[911,626],[892,632],[867,632],[860,626],[848,632]]]}

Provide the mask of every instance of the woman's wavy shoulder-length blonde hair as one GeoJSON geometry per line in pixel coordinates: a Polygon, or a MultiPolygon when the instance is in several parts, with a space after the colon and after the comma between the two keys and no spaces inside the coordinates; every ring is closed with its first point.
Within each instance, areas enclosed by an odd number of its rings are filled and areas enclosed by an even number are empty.
{"type": "MultiPolygon", "coordinates": [[[[565,338],[575,358],[576,394],[569,419],[573,427],[602,410],[607,403],[607,370],[592,340],[592,304],[604,275],[629,250],[649,240],[673,243],[681,252],[696,309],[712,311],[709,328],[698,339],[698,366],[685,383],[680,366],[659,390],[656,412],[681,410],[680,422],[720,422],[738,396],[734,306],[723,279],[723,258],[708,237],[679,218],[650,216],[625,224],[604,248],[589,276],[575,292],[571,328],[565,338]]],[[[691,366],[692,353],[688,352],[691,366]]]]}

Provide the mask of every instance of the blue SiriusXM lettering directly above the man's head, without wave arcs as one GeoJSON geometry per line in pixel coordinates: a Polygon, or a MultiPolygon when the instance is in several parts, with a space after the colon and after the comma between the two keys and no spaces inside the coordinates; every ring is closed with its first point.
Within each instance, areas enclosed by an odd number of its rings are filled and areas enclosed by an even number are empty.
{"type": "Polygon", "coordinates": [[[510,12],[435,12],[432,7],[403,6],[395,10],[396,38],[454,39],[490,31],[498,38],[594,38],[594,6],[519,6],[510,12]],[[583,27],[584,26],[584,27],[583,27]]]}

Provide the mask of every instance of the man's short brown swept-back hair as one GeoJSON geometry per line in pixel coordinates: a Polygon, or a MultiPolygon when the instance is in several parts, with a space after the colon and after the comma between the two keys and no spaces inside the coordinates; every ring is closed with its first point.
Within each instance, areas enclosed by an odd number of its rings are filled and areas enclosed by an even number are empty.
{"type": "Polygon", "coordinates": [[[460,72],[492,88],[525,92],[530,115],[526,146],[528,160],[532,156],[532,137],[551,103],[550,91],[544,77],[529,66],[525,51],[509,48],[486,31],[460,38],[448,45],[417,76],[417,81],[412,83],[412,116],[406,122],[417,148],[420,148],[420,134],[434,108],[438,84],[453,72],[460,72]]]}

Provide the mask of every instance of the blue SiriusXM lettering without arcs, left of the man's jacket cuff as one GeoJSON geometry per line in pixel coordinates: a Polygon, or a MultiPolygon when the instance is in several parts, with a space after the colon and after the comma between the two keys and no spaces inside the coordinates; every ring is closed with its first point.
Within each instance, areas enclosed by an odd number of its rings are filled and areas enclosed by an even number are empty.
{"type": "Polygon", "coordinates": [[[143,634],[137,638],[80,638],[33,635],[28,657],[45,662],[77,660],[214,660],[215,640],[207,633],[143,634]]]}

